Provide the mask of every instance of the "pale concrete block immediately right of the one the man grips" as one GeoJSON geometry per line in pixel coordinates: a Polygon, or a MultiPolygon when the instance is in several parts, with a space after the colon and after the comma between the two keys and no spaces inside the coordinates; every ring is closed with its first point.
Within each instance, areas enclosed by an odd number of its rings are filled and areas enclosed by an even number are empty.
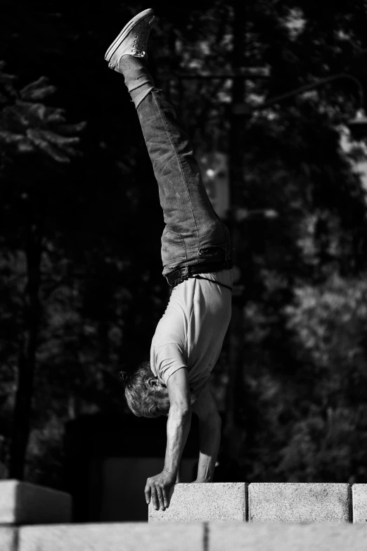
{"type": "Polygon", "coordinates": [[[349,522],[349,484],[251,483],[250,522],[349,522]]]}

